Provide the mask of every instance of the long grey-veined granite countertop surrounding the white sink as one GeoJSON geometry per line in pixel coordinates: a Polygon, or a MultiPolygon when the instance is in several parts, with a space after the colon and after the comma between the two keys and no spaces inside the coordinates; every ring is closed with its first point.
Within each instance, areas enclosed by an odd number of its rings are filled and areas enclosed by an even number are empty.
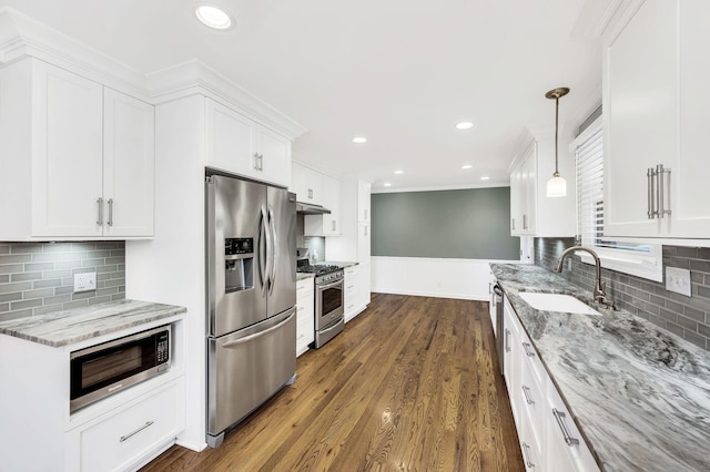
{"type": "Polygon", "coordinates": [[[490,266],[602,470],[710,470],[710,352],[541,267],[490,266]],[[602,316],[538,311],[519,291],[574,295],[602,316]]]}

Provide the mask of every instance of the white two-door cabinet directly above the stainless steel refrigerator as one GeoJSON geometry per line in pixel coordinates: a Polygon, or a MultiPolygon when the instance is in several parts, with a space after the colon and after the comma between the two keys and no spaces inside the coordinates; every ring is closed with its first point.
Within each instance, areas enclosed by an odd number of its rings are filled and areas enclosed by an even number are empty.
{"type": "Polygon", "coordinates": [[[291,185],[291,140],[205,99],[206,164],[277,185],[291,185]]]}

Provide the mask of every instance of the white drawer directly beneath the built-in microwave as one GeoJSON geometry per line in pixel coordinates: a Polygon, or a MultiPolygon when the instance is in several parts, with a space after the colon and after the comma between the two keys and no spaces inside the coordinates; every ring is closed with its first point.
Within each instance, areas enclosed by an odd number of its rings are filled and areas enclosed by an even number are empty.
{"type": "Polygon", "coordinates": [[[80,432],[81,470],[123,470],[174,438],[181,428],[178,384],[80,432]]]}

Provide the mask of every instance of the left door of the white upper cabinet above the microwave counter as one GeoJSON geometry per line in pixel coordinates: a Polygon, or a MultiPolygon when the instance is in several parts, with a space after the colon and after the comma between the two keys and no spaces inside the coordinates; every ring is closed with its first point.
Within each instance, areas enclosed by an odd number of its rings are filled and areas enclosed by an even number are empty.
{"type": "Polygon", "coordinates": [[[34,65],[32,235],[101,236],[103,88],[34,65]]]}

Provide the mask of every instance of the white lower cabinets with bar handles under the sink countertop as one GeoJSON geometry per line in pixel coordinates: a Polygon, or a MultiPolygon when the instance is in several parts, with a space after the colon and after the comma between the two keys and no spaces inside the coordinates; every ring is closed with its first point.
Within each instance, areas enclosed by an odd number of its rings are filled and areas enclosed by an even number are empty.
{"type": "Polygon", "coordinates": [[[599,471],[507,299],[504,307],[504,376],[526,470],[599,471]]]}

